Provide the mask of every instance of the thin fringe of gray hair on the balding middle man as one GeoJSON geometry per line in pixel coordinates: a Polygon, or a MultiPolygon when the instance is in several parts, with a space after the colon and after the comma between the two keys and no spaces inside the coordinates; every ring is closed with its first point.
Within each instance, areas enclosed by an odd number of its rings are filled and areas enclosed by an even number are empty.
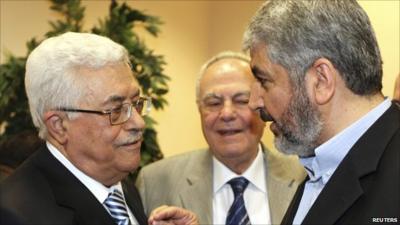
{"type": "Polygon", "coordinates": [[[224,51],[224,52],[220,52],[217,55],[213,56],[206,63],[204,63],[203,66],[201,66],[199,75],[197,77],[197,81],[196,81],[196,102],[197,103],[200,100],[200,81],[203,78],[206,70],[212,64],[214,64],[222,59],[239,59],[239,60],[242,60],[242,61],[250,64],[250,57],[245,55],[244,53],[240,53],[240,52],[224,51]]]}

